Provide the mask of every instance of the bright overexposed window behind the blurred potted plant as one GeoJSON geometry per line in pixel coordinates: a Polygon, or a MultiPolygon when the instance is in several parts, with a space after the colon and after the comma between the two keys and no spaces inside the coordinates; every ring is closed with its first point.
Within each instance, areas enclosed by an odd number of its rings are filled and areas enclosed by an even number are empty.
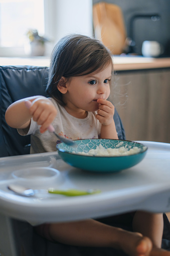
{"type": "Polygon", "coordinates": [[[21,55],[29,29],[44,35],[44,0],[0,0],[0,55],[21,55]]]}

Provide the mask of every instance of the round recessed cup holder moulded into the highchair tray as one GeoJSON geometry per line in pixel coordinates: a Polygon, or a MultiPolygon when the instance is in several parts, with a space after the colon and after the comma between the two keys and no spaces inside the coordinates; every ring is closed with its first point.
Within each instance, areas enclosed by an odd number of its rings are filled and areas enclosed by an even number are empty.
{"type": "Polygon", "coordinates": [[[51,186],[60,177],[60,172],[51,167],[30,167],[15,170],[12,176],[25,185],[51,186]]]}

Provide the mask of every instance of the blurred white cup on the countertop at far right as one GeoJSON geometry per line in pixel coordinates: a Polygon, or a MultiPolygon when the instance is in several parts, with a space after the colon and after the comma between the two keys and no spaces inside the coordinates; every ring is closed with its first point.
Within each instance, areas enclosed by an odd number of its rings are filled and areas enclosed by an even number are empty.
{"type": "Polygon", "coordinates": [[[163,53],[163,47],[157,41],[144,41],[141,52],[144,57],[158,57],[163,53]]]}

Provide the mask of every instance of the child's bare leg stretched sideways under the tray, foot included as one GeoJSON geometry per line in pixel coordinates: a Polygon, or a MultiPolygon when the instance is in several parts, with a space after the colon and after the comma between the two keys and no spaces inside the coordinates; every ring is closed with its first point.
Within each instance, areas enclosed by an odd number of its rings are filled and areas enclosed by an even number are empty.
{"type": "Polygon", "coordinates": [[[53,240],[75,246],[113,247],[130,256],[148,256],[152,248],[149,238],[128,232],[96,220],[69,223],[52,223],[50,236],[53,240]]]}

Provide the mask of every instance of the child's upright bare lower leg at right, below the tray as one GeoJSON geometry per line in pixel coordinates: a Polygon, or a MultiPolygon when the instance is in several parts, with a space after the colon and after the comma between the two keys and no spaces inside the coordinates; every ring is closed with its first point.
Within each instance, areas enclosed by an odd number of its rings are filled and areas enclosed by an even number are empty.
{"type": "Polygon", "coordinates": [[[170,251],[160,249],[163,233],[162,214],[137,211],[133,218],[133,230],[150,238],[153,245],[150,255],[170,256],[170,251]]]}

